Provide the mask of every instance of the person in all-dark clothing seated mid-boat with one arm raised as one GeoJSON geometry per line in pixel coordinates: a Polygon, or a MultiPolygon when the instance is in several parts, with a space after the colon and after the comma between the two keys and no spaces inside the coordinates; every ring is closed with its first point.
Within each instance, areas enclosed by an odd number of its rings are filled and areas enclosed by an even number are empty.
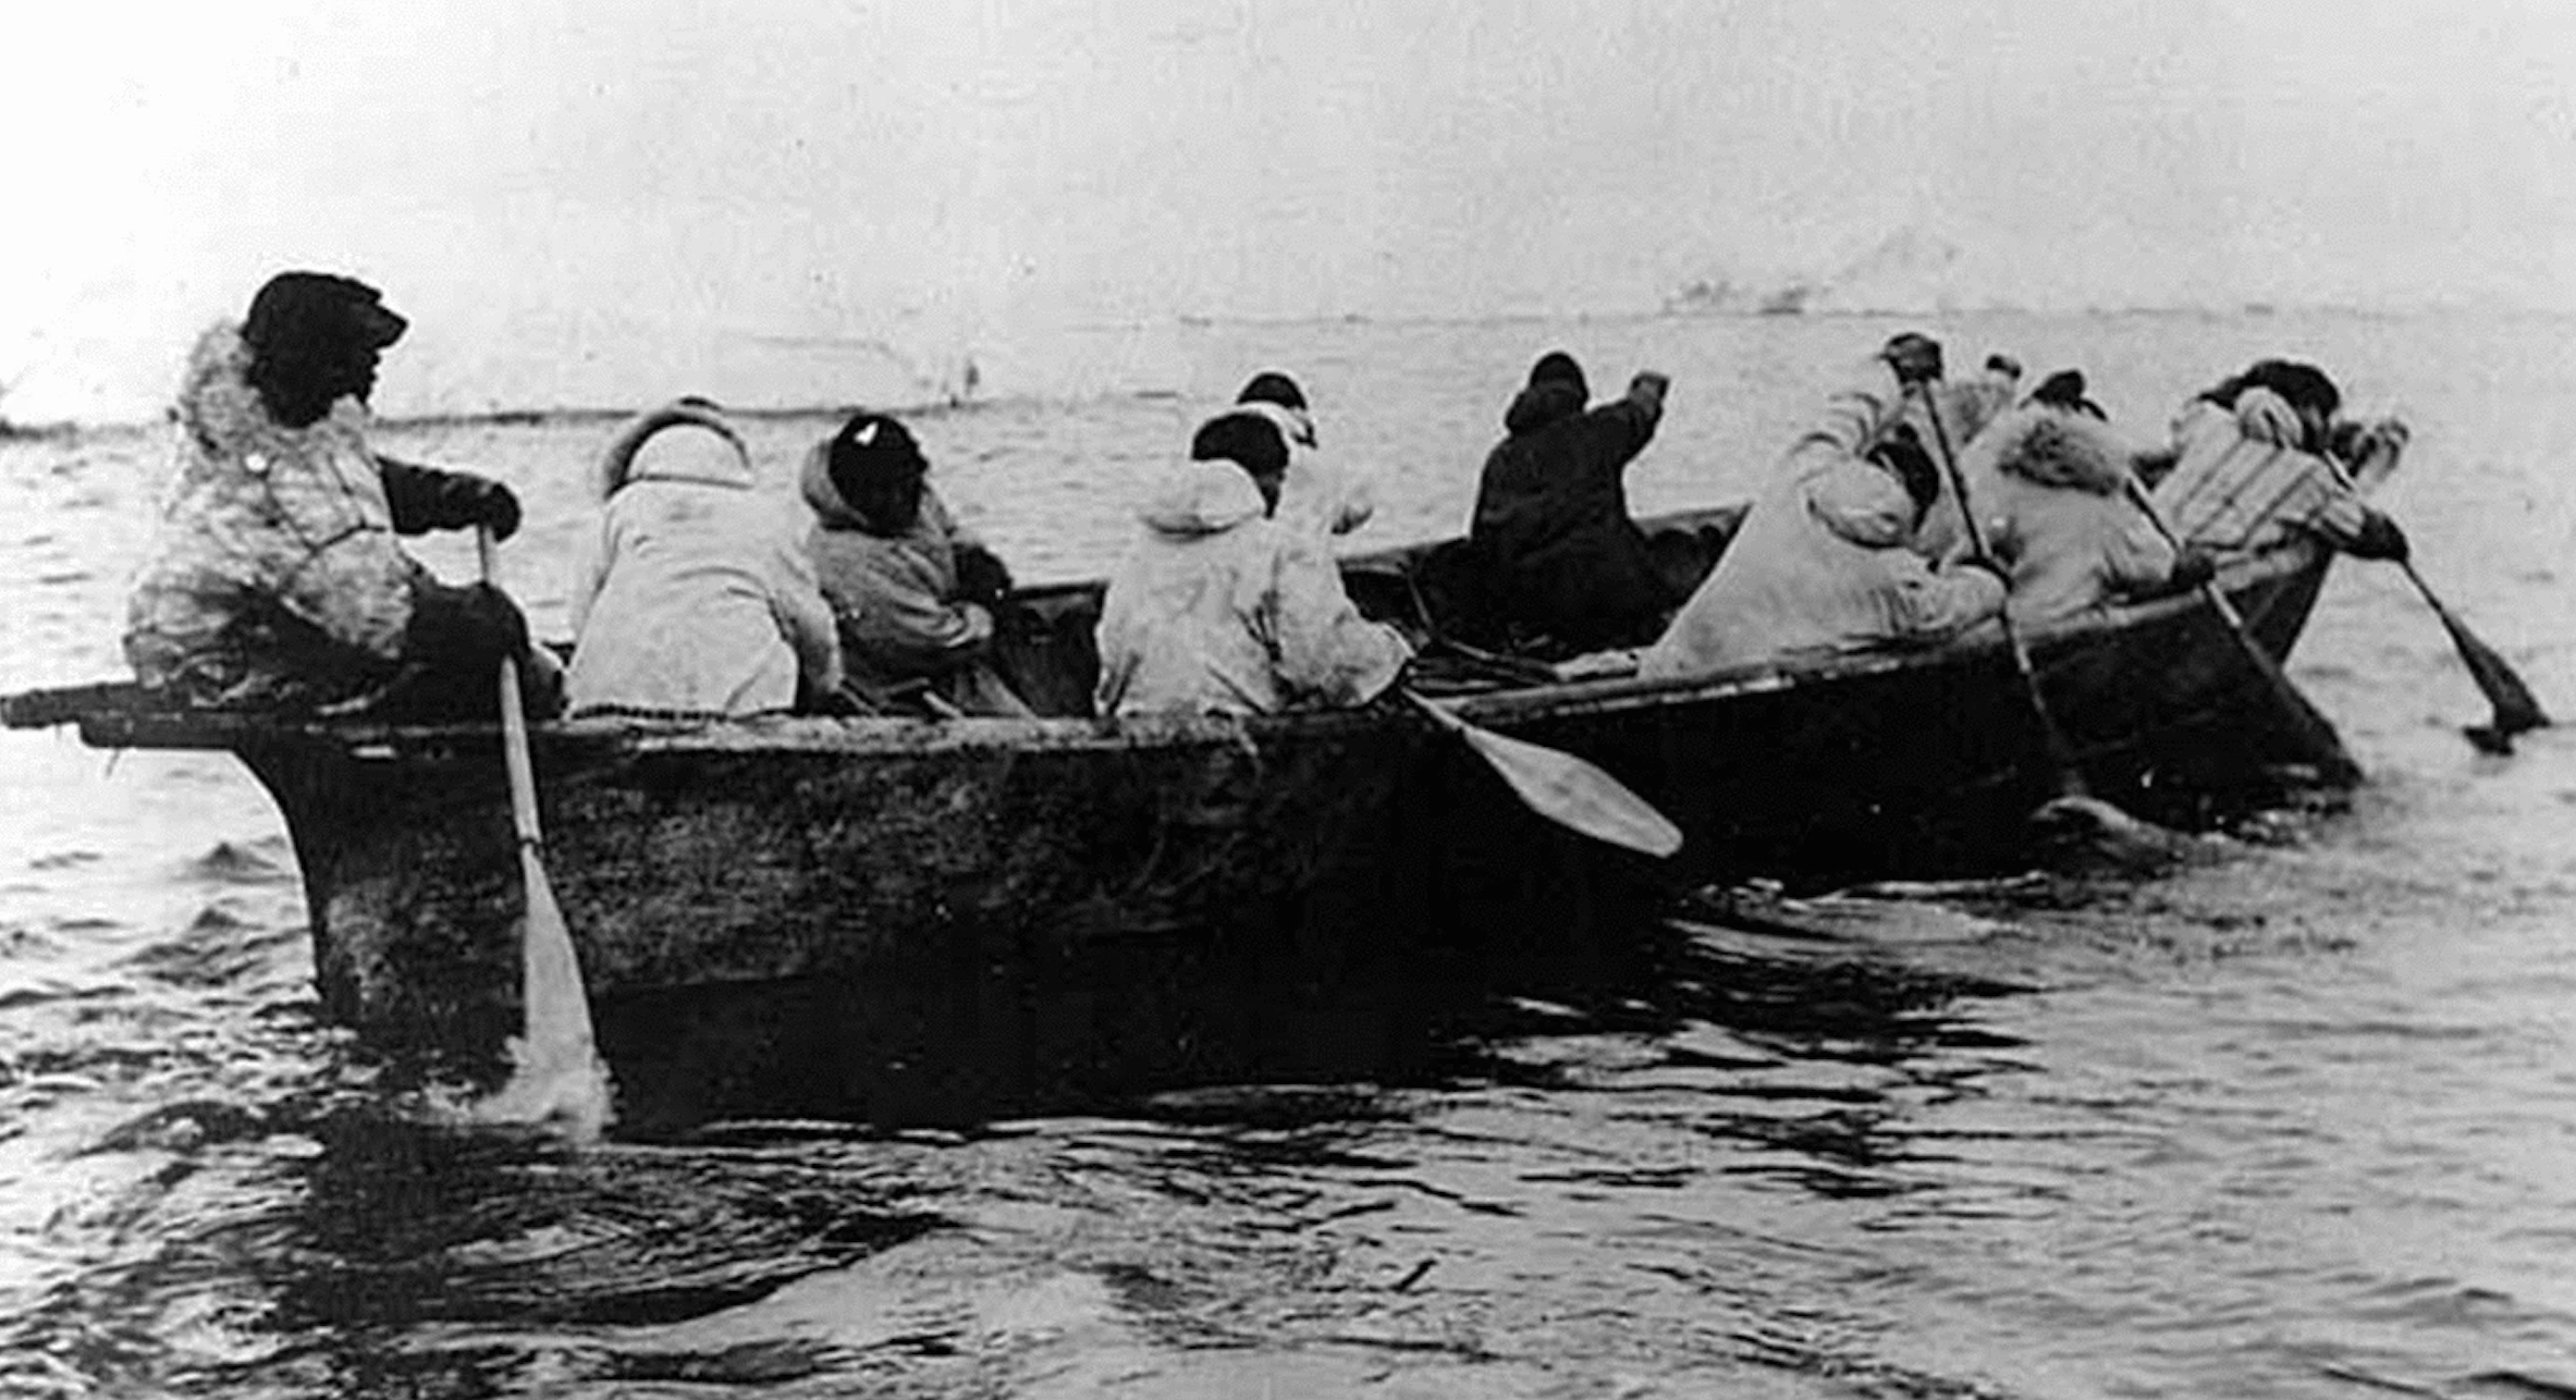
{"type": "Polygon", "coordinates": [[[1628,463],[1654,440],[1669,378],[1641,371],[1628,394],[1587,407],[1582,365],[1551,350],[1502,414],[1484,458],[1468,543],[1494,600],[1525,633],[1597,651],[1654,636],[1677,602],[1628,517],[1628,463]]]}

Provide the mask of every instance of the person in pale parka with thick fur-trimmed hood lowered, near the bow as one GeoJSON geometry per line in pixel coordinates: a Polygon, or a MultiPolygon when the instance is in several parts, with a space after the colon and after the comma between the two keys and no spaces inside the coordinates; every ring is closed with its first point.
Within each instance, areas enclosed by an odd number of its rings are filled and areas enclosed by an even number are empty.
{"type": "MultiPolygon", "coordinates": [[[[2004,607],[2014,623],[2056,623],[2210,576],[2208,556],[2177,556],[2146,517],[2133,463],[2136,448],[2084,396],[2079,371],[2050,376],[1960,450],[1986,548],[2012,561],[2004,607]]],[[[1958,533],[1932,548],[1955,561],[1971,543],[1958,533]]]]}

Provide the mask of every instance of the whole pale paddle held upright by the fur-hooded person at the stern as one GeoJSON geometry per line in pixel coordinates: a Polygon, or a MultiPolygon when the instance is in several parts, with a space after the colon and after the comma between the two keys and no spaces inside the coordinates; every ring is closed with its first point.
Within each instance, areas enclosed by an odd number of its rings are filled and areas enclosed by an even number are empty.
{"type": "MultiPolygon", "coordinates": [[[[489,584],[492,528],[474,533],[482,576],[489,584]]],[[[528,890],[520,937],[523,1035],[510,1040],[510,1083],[474,1112],[489,1122],[562,1119],[577,1138],[608,1127],[608,1065],[590,1037],[590,996],[572,952],[572,929],[546,880],[544,836],[536,829],[536,764],[528,762],[528,713],[518,692],[518,661],[500,664],[500,736],[510,767],[510,821],[518,829],[518,872],[528,890]]]]}

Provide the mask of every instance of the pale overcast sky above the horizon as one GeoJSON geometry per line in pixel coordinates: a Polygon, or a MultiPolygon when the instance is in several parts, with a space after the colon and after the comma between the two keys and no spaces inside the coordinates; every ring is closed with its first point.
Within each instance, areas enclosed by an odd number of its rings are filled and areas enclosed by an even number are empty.
{"type": "Polygon", "coordinates": [[[10,41],[21,417],[149,412],[286,265],[384,286],[446,383],[502,340],[1651,309],[1899,229],[2045,306],[2576,309],[2568,0],[54,3],[10,41]]]}

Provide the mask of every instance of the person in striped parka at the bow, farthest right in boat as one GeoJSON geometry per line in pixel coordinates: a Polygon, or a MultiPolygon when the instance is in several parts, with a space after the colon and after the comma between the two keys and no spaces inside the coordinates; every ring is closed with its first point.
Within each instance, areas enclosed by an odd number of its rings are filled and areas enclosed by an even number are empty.
{"type": "Polygon", "coordinates": [[[2257,360],[2174,414],[2156,510],[2190,546],[2226,556],[2311,535],[2362,558],[2406,558],[2406,533],[2357,481],[2385,476],[2406,425],[2342,422],[2342,391],[2316,365],[2257,360]]]}

